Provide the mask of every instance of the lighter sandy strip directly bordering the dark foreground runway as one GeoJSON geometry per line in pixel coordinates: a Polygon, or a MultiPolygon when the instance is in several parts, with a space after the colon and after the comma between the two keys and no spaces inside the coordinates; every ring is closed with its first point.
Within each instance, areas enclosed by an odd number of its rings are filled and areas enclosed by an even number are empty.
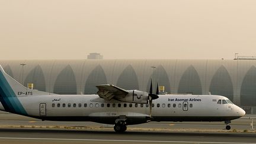
{"type": "MultiPolygon", "coordinates": [[[[224,123],[175,123],[175,122],[150,122],[127,126],[128,130],[197,130],[209,132],[226,132],[224,123]]],[[[40,121],[40,120],[0,120],[0,127],[37,127],[37,128],[71,128],[71,129],[108,129],[113,130],[113,125],[99,124],[89,121],[40,121]]],[[[231,124],[235,130],[249,130],[248,124],[231,124]]]]}

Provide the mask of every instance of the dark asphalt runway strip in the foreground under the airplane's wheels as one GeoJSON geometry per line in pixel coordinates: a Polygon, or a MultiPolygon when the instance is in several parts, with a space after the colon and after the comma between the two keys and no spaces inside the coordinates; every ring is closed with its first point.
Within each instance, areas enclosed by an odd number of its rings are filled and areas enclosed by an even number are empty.
{"type": "Polygon", "coordinates": [[[255,133],[0,129],[0,143],[255,143],[255,133]]]}

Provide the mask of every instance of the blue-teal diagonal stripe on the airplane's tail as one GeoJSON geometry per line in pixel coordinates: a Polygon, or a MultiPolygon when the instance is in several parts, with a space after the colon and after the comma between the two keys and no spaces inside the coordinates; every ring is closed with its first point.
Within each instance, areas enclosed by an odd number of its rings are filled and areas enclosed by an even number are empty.
{"type": "Polygon", "coordinates": [[[0,72],[0,101],[6,111],[27,116],[27,112],[2,72],[0,72]]]}

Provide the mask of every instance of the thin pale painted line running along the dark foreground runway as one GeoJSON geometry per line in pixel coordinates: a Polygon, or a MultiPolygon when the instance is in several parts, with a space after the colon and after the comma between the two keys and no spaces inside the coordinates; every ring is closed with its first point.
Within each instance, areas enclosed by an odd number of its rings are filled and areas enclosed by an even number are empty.
{"type": "Polygon", "coordinates": [[[0,137],[0,139],[26,139],[26,140],[81,140],[81,141],[107,141],[107,142],[162,142],[162,143],[223,143],[223,144],[256,144],[241,142],[193,142],[193,141],[161,141],[161,140],[119,140],[119,139],[54,139],[30,137],[0,137]]]}

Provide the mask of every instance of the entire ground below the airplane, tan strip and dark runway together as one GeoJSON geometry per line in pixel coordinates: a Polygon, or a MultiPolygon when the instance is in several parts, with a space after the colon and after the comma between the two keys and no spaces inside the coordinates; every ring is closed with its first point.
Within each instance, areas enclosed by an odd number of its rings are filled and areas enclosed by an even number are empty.
{"type": "Polygon", "coordinates": [[[116,133],[112,125],[89,121],[41,121],[0,113],[0,143],[255,143],[250,120],[223,122],[150,122],[116,133]],[[247,130],[249,133],[245,133],[247,130]],[[248,131],[249,130],[249,131],[248,131]]]}

